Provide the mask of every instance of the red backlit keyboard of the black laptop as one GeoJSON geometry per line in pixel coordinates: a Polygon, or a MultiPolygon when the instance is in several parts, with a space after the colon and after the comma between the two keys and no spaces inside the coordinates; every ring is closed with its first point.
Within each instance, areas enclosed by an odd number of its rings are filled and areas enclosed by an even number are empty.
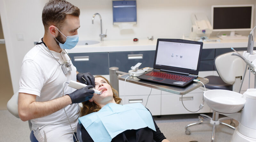
{"type": "Polygon", "coordinates": [[[149,72],[146,75],[167,78],[167,79],[172,79],[177,81],[183,81],[183,82],[188,82],[189,80],[192,79],[192,77],[188,77],[188,76],[173,75],[173,74],[160,73],[160,72],[149,72]]]}

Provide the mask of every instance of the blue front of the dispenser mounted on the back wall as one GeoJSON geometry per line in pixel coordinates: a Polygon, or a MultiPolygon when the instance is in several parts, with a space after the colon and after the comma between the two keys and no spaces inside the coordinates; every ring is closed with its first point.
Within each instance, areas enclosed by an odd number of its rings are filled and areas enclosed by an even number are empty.
{"type": "Polygon", "coordinates": [[[136,1],[112,1],[113,22],[137,22],[136,1]]]}

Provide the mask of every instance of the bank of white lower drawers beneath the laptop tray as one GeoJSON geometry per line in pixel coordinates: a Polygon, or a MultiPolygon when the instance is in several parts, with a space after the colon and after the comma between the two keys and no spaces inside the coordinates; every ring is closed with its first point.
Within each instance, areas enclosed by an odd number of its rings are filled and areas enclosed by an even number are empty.
{"type": "MultiPolygon", "coordinates": [[[[202,75],[213,75],[213,71],[202,72],[202,75]]],[[[123,103],[142,103],[150,110],[152,115],[172,115],[172,114],[189,114],[190,111],[197,111],[199,105],[203,102],[204,87],[197,88],[186,95],[183,95],[183,103],[181,103],[181,95],[152,89],[142,85],[125,82],[119,80],[119,97],[123,103]],[[125,94],[124,94],[125,93],[125,94]],[[150,96],[148,97],[148,95],[150,96]]],[[[204,103],[204,108],[196,113],[208,113],[211,109],[204,103]]]]}

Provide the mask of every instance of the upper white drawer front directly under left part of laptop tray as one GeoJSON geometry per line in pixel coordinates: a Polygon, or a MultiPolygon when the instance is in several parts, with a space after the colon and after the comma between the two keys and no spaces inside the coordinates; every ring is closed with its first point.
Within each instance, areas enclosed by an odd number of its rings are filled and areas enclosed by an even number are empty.
{"type": "MultiPolygon", "coordinates": [[[[125,96],[138,96],[138,95],[149,95],[151,88],[130,83],[130,82],[125,82],[125,90],[124,90],[124,81],[119,80],[119,96],[124,96],[124,91],[125,91],[125,96]]],[[[160,95],[161,91],[157,89],[152,89],[151,95],[160,95]]]]}

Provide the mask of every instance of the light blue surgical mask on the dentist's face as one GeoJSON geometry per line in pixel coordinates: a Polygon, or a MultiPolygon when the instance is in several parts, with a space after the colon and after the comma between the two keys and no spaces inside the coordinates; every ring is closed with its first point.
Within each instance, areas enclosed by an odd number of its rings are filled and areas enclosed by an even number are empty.
{"type": "MultiPolygon", "coordinates": [[[[57,27],[56,27],[57,28],[57,27]]],[[[60,32],[60,30],[57,28],[57,30],[60,32]]],[[[61,32],[60,32],[61,33],[61,32]]],[[[62,34],[62,33],[61,33],[62,34]]],[[[64,37],[66,37],[64,34],[62,34],[64,37]]],[[[53,36],[54,37],[54,36],[53,36]]],[[[73,36],[67,36],[66,37],[67,39],[66,39],[66,41],[65,41],[65,43],[64,44],[62,44],[62,43],[60,43],[55,37],[54,37],[54,39],[56,40],[56,41],[58,41],[59,42],[59,45],[60,45],[60,48],[61,49],[72,49],[72,48],[74,48],[75,46],[76,46],[76,44],[77,44],[77,42],[78,42],[78,39],[79,39],[79,37],[78,37],[78,34],[77,35],[73,35],[73,36]]]]}

